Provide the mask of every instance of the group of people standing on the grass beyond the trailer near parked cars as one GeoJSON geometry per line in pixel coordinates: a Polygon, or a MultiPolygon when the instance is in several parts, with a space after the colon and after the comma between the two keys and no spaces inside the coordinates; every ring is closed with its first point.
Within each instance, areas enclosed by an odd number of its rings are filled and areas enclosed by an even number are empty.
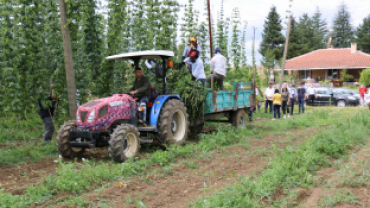
{"type": "Polygon", "coordinates": [[[301,83],[296,89],[295,84],[288,87],[287,82],[284,82],[281,90],[274,89],[273,83],[269,83],[268,88],[265,90],[265,113],[269,109],[272,113],[274,109],[274,118],[280,118],[280,109],[283,112],[283,118],[290,118],[293,116],[294,103],[298,102],[299,113],[304,113],[304,103],[306,99],[314,100],[316,97],[315,91],[312,86],[307,89],[304,87],[304,83],[301,83]]]}

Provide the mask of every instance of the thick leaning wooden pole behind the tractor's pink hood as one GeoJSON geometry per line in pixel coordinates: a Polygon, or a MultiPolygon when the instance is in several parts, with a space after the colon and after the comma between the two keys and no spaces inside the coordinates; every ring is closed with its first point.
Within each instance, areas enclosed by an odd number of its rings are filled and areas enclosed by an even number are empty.
{"type": "Polygon", "coordinates": [[[76,81],[75,71],[73,69],[72,58],[72,44],[69,25],[67,23],[67,7],[64,0],[58,0],[60,22],[63,34],[63,48],[64,48],[64,63],[66,67],[67,89],[68,89],[68,104],[69,104],[69,118],[76,119],[77,100],[76,100],[76,81]]]}

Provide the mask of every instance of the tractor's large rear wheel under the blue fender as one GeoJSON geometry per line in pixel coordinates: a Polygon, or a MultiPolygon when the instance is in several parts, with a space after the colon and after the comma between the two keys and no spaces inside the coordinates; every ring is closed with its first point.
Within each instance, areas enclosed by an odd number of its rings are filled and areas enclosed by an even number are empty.
{"type": "Polygon", "coordinates": [[[159,136],[168,145],[185,143],[189,132],[189,119],[184,103],[180,100],[167,101],[159,115],[159,136]]]}

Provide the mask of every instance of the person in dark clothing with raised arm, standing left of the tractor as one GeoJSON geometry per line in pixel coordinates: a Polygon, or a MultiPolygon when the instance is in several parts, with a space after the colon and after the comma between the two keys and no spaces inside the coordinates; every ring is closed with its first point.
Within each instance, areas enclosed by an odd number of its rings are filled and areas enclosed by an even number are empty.
{"type": "Polygon", "coordinates": [[[47,100],[51,101],[51,106],[43,107],[41,100],[39,99],[39,107],[40,107],[40,117],[44,121],[45,125],[45,133],[44,133],[44,144],[51,141],[51,138],[54,133],[54,123],[53,123],[53,116],[56,104],[56,97],[53,93],[53,85],[49,86],[51,93],[47,100]]]}

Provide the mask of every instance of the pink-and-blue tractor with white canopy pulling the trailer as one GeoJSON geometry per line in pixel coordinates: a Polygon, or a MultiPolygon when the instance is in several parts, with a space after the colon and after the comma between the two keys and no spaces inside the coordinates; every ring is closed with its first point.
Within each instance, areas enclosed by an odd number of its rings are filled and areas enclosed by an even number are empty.
{"type": "Polygon", "coordinates": [[[109,146],[116,162],[135,157],[141,144],[184,144],[189,132],[188,114],[179,95],[167,94],[166,73],[171,68],[172,51],[140,51],[109,56],[107,60],[131,60],[136,67],[140,60],[155,59],[153,73],[163,79],[159,96],[148,103],[147,126],[138,125],[138,112],[143,110],[127,94],[90,101],[81,105],[76,121],[66,122],[58,131],[59,153],[66,158],[81,157],[86,148],[109,146]],[[150,137],[149,135],[154,135],[150,137]]]}

